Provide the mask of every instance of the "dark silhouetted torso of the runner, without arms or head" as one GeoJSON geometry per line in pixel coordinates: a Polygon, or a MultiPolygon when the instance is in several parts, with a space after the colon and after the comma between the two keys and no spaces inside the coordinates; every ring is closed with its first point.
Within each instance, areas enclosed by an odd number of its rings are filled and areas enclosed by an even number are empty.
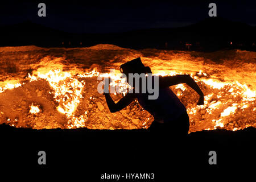
{"type": "Polygon", "coordinates": [[[159,88],[159,96],[156,100],[148,100],[148,94],[138,94],[137,98],[143,109],[154,117],[149,131],[172,135],[188,133],[187,110],[170,88],[159,88]]]}

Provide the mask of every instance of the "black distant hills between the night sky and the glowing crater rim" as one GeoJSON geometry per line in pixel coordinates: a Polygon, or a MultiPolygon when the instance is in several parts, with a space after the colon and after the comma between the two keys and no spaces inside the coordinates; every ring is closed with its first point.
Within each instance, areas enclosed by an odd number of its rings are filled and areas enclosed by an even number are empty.
{"type": "Polygon", "coordinates": [[[114,44],[124,48],[255,51],[256,27],[223,18],[208,18],[180,28],[153,28],[112,34],[74,34],[23,22],[0,27],[0,46],[89,47],[114,44]]]}

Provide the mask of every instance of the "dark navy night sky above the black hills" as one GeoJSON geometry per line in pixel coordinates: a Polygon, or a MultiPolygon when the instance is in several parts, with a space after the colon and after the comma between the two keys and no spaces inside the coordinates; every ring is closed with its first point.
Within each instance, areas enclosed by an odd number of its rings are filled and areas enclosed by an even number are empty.
{"type": "Polygon", "coordinates": [[[256,25],[256,1],[27,1],[1,2],[0,26],[30,20],[66,32],[124,32],[144,28],[183,27],[208,16],[210,2],[217,16],[256,25]],[[46,3],[46,17],[38,4],[46,3]]]}

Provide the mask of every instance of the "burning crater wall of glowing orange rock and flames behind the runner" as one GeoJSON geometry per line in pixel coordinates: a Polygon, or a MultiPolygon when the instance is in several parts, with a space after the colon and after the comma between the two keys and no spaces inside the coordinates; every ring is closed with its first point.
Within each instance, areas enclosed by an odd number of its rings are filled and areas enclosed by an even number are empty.
{"type": "MultiPolygon", "coordinates": [[[[187,107],[190,132],[241,130],[256,127],[256,53],[160,51],[97,45],[89,48],[0,48],[0,123],[32,129],[142,129],[154,118],[137,101],[110,113],[105,97],[97,92],[97,76],[120,82],[110,68],[141,57],[154,75],[189,74],[199,84],[205,105],[185,84],[172,86],[187,107]]],[[[122,94],[112,94],[115,101],[122,94]]]]}

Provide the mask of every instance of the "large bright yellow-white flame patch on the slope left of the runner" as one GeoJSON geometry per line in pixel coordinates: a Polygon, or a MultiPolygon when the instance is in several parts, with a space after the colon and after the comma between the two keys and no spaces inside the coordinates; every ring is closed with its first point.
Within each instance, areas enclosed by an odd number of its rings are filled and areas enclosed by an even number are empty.
{"type": "MultiPolygon", "coordinates": [[[[97,76],[99,73],[95,70],[89,73],[84,73],[82,75],[77,75],[77,77],[93,77],[97,76]]],[[[28,78],[30,81],[36,81],[40,79],[47,80],[49,85],[53,88],[55,100],[59,103],[56,109],[67,116],[69,128],[73,127],[83,127],[86,111],[84,115],[80,115],[79,118],[75,117],[73,114],[80,103],[82,98],[81,92],[84,87],[85,82],[79,81],[75,78],[72,73],[63,72],[60,69],[51,70],[45,74],[38,72],[36,75],[31,76],[28,73],[28,78]]]]}

